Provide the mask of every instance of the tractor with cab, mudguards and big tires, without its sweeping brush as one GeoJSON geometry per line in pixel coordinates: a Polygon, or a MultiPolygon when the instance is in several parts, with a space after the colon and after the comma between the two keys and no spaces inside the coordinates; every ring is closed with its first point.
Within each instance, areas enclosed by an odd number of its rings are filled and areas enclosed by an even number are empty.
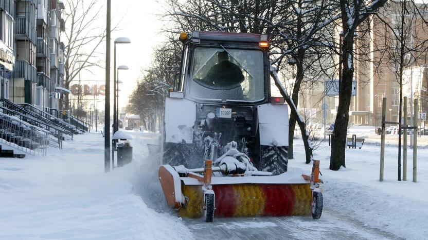
{"type": "Polygon", "coordinates": [[[165,104],[164,164],[201,167],[227,145],[287,171],[288,108],[270,93],[268,36],[182,33],[181,71],[165,104]]]}

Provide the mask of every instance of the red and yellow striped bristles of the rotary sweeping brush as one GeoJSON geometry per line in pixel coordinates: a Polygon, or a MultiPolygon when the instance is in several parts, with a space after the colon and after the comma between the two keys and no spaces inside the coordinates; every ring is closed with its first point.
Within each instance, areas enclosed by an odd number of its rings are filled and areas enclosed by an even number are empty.
{"type": "MultiPolygon", "coordinates": [[[[231,184],[213,185],[216,193],[216,217],[310,215],[312,192],[309,184],[231,184]]],[[[203,215],[201,186],[183,185],[189,198],[179,214],[183,217],[203,215]]]]}

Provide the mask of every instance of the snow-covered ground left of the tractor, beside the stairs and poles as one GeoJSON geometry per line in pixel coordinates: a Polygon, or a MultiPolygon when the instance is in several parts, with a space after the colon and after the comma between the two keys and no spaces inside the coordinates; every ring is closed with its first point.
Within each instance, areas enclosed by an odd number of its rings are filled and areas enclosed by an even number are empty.
{"type": "Polygon", "coordinates": [[[0,239],[192,238],[180,218],[141,201],[152,193],[137,190],[148,179],[147,149],[133,143],[135,161],[108,174],[99,132],[46,157],[0,158],[0,239]]]}

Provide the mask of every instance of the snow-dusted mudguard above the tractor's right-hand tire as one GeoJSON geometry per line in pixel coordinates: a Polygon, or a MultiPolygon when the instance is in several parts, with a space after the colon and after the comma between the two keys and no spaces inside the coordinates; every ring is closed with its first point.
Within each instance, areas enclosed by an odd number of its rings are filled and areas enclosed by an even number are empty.
{"type": "Polygon", "coordinates": [[[288,105],[263,104],[257,106],[260,145],[288,147],[288,105]]]}

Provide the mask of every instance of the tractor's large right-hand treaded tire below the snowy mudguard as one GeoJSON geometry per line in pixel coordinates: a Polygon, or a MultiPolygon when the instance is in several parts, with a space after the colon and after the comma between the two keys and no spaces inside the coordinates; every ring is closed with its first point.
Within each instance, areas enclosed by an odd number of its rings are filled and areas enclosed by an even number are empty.
{"type": "Polygon", "coordinates": [[[260,170],[278,175],[287,172],[288,148],[260,146],[260,170]]]}

